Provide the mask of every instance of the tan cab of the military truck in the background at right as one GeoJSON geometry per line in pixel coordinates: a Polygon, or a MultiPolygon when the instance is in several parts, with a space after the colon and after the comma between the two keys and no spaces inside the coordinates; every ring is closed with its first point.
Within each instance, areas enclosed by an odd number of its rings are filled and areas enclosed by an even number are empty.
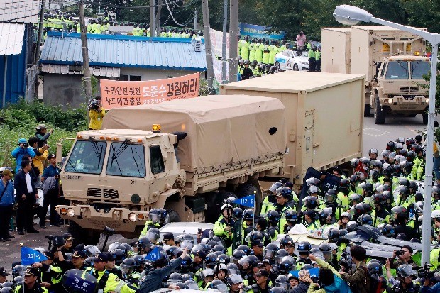
{"type": "Polygon", "coordinates": [[[375,77],[377,83],[370,92],[375,123],[385,123],[387,112],[404,116],[421,114],[423,123],[427,123],[429,96],[424,77],[429,70],[429,57],[383,57],[375,77]]]}

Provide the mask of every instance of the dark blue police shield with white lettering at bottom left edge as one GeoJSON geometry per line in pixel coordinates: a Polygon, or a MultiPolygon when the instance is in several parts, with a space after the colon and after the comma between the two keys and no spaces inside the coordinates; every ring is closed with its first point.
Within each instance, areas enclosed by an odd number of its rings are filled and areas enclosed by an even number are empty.
{"type": "Polygon", "coordinates": [[[68,270],[62,276],[62,287],[70,293],[94,293],[97,279],[83,270],[68,270]]]}

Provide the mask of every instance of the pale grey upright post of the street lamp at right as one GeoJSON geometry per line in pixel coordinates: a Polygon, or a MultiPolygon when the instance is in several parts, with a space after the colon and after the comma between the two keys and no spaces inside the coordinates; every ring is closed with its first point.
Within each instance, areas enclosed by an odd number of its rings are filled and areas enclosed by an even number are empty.
{"type": "MultiPolygon", "coordinates": [[[[437,35],[438,36],[438,35],[437,35]]],[[[427,155],[424,173],[424,201],[422,219],[422,265],[429,262],[431,254],[431,194],[432,194],[432,169],[434,157],[434,118],[436,116],[436,77],[437,77],[437,53],[439,50],[439,41],[433,38],[429,41],[432,45],[431,55],[431,79],[429,80],[429,106],[428,106],[428,126],[427,126],[427,155]],[[424,241],[423,241],[424,240],[424,241]]],[[[437,178],[438,179],[438,178],[437,178]]]]}

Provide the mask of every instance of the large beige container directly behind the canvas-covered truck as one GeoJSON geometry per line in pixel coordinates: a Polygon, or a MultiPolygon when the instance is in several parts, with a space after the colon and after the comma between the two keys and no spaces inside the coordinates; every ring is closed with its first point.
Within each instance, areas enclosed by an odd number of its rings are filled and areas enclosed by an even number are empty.
{"type": "Polygon", "coordinates": [[[270,96],[286,109],[280,176],[301,184],[308,167],[326,170],[362,153],[363,75],[286,71],[221,86],[221,94],[270,96]]]}

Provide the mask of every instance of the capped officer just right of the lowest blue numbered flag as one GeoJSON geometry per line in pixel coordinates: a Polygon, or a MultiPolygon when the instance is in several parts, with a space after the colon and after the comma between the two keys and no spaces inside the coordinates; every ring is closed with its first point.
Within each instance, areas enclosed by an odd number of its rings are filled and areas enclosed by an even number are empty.
{"type": "Polygon", "coordinates": [[[39,269],[41,271],[38,275],[38,282],[42,287],[50,290],[51,292],[58,292],[62,289],[61,278],[62,270],[61,267],[53,265],[53,260],[55,258],[55,253],[51,251],[46,251],[44,253],[47,260],[42,262],[35,262],[31,267],[39,269]]]}

